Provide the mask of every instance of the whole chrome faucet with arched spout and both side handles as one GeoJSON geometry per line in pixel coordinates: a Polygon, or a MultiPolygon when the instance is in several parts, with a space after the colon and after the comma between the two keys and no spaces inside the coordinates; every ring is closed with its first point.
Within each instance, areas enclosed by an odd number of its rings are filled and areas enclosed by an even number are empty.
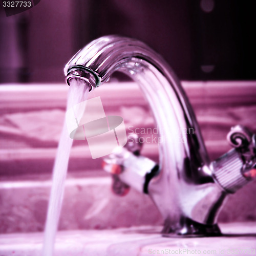
{"type": "Polygon", "coordinates": [[[233,150],[210,162],[180,81],[160,55],[136,39],[111,35],[92,41],[67,63],[65,75],[68,84],[82,79],[92,90],[117,70],[139,84],[151,106],[162,138],[159,163],[140,156],[140,145],[128,140],[104,159],[104,169],[125,189],[134,186],[151,197],[164,218],[164,236],[220,235],[217,217],[224,200],[256,176],[255,134],[233,127],[228,134],[233,150]],[[181,141],[180,133],[189,129],[193,133],[181,141]]]}

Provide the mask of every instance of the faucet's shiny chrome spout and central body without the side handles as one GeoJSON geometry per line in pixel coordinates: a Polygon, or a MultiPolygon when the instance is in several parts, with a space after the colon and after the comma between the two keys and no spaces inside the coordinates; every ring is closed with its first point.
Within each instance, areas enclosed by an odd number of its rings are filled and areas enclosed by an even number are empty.
{"type": "MultiPolygon", "coordinates": [[[[66,65],[65,75],[68,83],[79,75],[83,80],[91,78],[88,86],[94,88],[117,70],[139,84],[157,123],[161,141],[159,171],[145,182],[146,193],[165,220],[163,233],[166,236],[220,234],[217,217],[228,191],[217,173],[214,175],[194,111],[164,59],[136,39],[104,36],[80,50],[66,65]]],[[[255,159],[255,154],[252,158],[255,159]]],[[[133,156],[134,162],[136,159],[133,156]]],[[[125,170],[127,165],[121,174],[125,170]]],[[[141,189],[141,180],[138,185],[121,174],[124,183],[141,189]]]]}

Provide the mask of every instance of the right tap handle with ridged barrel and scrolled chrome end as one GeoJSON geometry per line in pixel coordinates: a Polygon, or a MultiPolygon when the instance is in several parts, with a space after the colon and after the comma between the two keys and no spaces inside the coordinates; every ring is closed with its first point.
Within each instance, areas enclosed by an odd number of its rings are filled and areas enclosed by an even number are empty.
{"type": "Polygon", "coordinates": [[[213,176],[224,190],[235,193],[256,177],[255,134],[236,125],[231,128],[227,140],[234,149],[212,162],[213,176]]]}

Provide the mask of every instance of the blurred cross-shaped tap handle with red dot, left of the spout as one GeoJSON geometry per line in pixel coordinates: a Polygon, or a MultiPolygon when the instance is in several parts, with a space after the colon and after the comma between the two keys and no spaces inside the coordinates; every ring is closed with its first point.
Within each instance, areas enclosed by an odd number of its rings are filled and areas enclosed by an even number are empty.
{"type": "Polygon", "coordinates": [[[124,147],[117,147],[108,158],[103,159],[103,169],[112,174],[115,194],[126,195],[130,185],[140,192],[148,193],[148,183],[159,168],[154,161],[140,156],[141,148],[138,136],[131,134],[124,147]]]}

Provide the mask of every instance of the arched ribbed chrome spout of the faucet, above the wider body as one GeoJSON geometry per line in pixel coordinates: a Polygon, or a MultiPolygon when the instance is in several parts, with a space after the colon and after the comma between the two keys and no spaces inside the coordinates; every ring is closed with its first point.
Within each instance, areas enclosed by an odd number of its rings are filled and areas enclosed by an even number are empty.
{"type": "Polygon", "coordinates": [[[89,85],[97,87],[117,70],[139,84],[151,105],[163,138],[161,144],[165,144],[159,148],[160,166],[164,158],[168,158],[168,164],[172,161],[174,167],[182,165],[180,157],[190,159],[191,154],[196,169],[208,164],[195,114],[178,78],[166,61],[143,42],[115,35],[98,38],[67,63],[65,75],[68,83],[72,77],[84,79],[87,75],[89,85]],[[80,74],[74,76],[72,71],[80,74]]]}

